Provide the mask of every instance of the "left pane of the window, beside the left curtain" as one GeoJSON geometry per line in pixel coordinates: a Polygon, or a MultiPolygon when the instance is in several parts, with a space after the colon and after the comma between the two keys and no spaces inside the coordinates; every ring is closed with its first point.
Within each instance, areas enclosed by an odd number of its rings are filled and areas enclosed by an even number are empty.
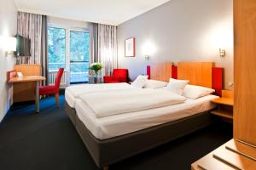
{"type": "Polygon", "coordinates": [[[66,68],[66,29],[48,27],[49,71],[66,68]]]}

